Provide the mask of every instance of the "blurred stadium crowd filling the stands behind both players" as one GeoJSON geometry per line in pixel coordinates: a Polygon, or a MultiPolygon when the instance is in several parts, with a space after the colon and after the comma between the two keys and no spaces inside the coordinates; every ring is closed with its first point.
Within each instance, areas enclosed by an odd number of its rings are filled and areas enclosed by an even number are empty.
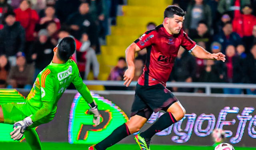
{"type": "MultiPolygon", "coordinates": [[[[60,39],[72,36],[73,55],[83,79],[92,65],[98,79],[96,55],[105,44],[109,26],[116,25],[117,7],[123,0],[0,0],[0,87],[32,87],[37,74],[53,56],[60,39]]],[[[183,29],[198,45],[212,53],[222,52],[226,62],[203,60],[182,47],[169,81],[256,83],[256,0],[173,0],[186,11],[183,29]]],[[[153,20],[152,20],[153,21],[153,20]]],[[[149,22],[148,30],[156,24],[149,22]]],[[[142,31],[143,32],[143,31],[142,31]]],[[[138,33],[139,34],[139,33],[138,33]]],[[[125,58],[110,71],[108,80],[122,80],[125,58]]],[[[135,59],[138,79],[146,50],[135,59]]],[[[178,92],[203,89],[172,88],[178,92]]],[[[213,89],[213,93],[256,94],[256,89],[213,89]]]]}

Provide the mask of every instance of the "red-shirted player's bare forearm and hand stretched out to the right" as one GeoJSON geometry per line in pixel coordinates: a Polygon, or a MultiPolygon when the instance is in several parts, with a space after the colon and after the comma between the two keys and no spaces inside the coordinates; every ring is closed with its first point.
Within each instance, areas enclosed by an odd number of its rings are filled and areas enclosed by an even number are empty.
{"type": "Polygon", "coordinates": [[[225,55],[222,53],[209,53],[201,46],[196,45],[193,49],[190,50],[192,55],[201,59],[216,59],[225,61],[225,55]]]}

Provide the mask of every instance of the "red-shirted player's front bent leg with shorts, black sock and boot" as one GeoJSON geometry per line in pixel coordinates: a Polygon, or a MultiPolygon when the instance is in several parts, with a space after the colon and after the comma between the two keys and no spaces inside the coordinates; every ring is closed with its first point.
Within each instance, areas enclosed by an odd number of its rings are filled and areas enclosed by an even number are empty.
{"type": "Polygon", "coordinates": [[[166,113],[162,114],[146,131],[135,136],[135,139],[139,138],[146,141],[144,146],[150,149],[149,143],[152,136],[183,118],[185,109],[180,105],[178,99],[172,92],[163,85],[158,84],[146,87],[146,89],[144,97],[147,99],[147,105],[149,105],[154,112],[160,110],[166,111],[166,113]]]}

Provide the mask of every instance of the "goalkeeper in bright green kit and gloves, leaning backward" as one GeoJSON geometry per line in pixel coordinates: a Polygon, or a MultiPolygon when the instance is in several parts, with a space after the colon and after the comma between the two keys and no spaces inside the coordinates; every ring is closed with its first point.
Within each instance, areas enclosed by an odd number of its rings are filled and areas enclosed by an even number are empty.
{"type": "Polygon", "coordinates": [[[53,49],[54,57],[50,65],[42,70],[34,83],[26,103],[6,103],[0,106],[0,123],[14,124],[10,133],[13,140],[25,135],[32,150],[42,146],[34,127],[50,122],[56,113],[57,103],[72,82],[90,106],[95,125],[100,123],[100,114],[89,89],[83,83],[76,63],[70,59],[76,50],[73,38],[63,38],[53,49]]]}

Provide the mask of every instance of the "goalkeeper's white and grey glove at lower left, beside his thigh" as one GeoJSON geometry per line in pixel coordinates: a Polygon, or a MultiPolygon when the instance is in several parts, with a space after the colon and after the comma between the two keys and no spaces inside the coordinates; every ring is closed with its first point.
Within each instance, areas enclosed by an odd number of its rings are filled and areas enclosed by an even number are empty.
{"type": "Polygon", "coordinates": [[[32,119],[30,116],[26,117],[25,119],[18,121],[14,123],[13,125],[13,131],[10,132],[11,138],[13,140],[20,140],[23,136],[23,133],[25,132],[26,128],[33,124],[32,119]]]}

